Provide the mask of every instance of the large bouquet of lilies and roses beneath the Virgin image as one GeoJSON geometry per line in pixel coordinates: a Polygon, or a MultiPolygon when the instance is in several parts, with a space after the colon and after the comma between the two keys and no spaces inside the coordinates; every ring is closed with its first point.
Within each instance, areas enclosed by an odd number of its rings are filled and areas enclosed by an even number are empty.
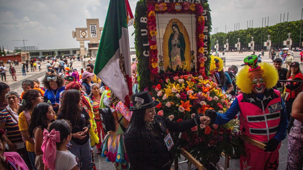
{"type": "MultiPolygon", "coordinates": [[[[171,76],[170,76],[171,77],[171,76]]],[[[174,76],[154,85],[151,91],[157,106],[158,115],[180,122],[191,119],[197,114],[205,114],[208,109],[225,113],[231,105],[230,99],[217,84],[200,75],[174,76]]],[[[202,164],[215,162],[221,152],[232,155],[233,149],[241,152],[239,145],[239,121],[233,119],[225,125],[200,124],[182,133],[181,147],[185,148],[202,164]]]]}

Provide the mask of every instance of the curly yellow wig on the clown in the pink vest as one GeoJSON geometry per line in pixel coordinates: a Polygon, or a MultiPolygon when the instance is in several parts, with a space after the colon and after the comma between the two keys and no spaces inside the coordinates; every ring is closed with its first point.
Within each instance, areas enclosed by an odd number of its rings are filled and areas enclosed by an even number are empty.
{"type": "MultiPolygon", "coordinates": [[[[278,71],[272,64],[262,62],[259,64],[263,70],[262,78],[265,80],[266,88],[270,89],[277,84],[279,80],[278,71]]],[[[236,76],[236,84],[243,93],[252,93],[252,80],[249,78],[249,66],[241,69],[236,76]]]]}

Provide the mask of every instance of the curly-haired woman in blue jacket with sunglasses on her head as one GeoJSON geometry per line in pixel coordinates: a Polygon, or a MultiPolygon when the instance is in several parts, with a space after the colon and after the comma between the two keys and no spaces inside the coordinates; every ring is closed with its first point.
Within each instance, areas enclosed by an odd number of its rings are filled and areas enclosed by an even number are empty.
{"type": "Polygon", "coordinates": [[[46,88],[44,100],[51,103],[56,113],[58,113],[59,110],[60,92],[65,90],[63,83],[64,79],[57,74],[45,76],[42,80],[42,84],[46,88]]]}

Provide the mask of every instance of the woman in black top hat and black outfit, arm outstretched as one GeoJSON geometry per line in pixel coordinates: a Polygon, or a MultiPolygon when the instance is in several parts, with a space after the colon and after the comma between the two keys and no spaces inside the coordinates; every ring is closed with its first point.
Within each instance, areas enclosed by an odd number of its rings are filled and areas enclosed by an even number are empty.
{"type": "Polygon", "coordinates": [[[125,133],[124,145],[133,170],[170,169],[172,153],[168,151],[170,132],[183,132],[201,123],[208,125],[210,118],[196,116],[193,119],[173,122],[155,113],[159,104],[153,100],[149,91],[132,95],[133,111],[128,129],[125,133]]]}

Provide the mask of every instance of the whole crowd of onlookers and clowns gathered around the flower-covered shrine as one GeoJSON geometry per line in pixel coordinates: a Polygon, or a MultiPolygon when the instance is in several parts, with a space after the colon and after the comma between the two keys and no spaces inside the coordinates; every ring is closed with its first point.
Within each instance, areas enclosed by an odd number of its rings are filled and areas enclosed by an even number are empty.
{"type": "Polygon", "coordinates": [[[245,58],[247,66],[241,71],[235,65],[224,71],[223,60],[213,56],[210,79],[234,101],[224,114],[207,110],[206,116],[181,122],[157,115],[155,108],[159,102],[148,91],[139,92],[137,61],[132,63],[131,108],[93,73],[94,65],[90,62],[81,74],[63,59],[48,62],[42,86],[37,79],[23,80],[21,94],[0,82],[0,169],[96,169],[93,147],[116,169],[170,169],[172,154],[162,145],[166,129],[183,132],[200,124],[223,124],[237,114],[241,132],[266,144],[266,152],[245,145],[246,156],[241,155],[240,159],[242,169],[264,169],[272,162],[278,166],[278,149],[287,127],[287,168],[302,168],[300,64],[292,61],[288,70],[281,67],[280,57],[274,59],[273,65],[259,60],[257,55],[251,55],[245,58]],[[137,105],[138,98],[144,107],[137,105]],[[273,105],[277,103],[281,109],[275,110],[273,105]],[[104,124],[105,113],[112,114],[112,123],[104,124]],[[273,113],[278,116],[266,116],[273,113]],[[265,115],[258,117],[264,120],[253,121],[259,114],[265,115]],[[262,124],[265,122],[267,127],[262,124]],[[269,132],[260,135],[256,127],[268,128],[269,132]],[[255,128],[254,133],[251,128],[255,128]],[[256,157],[266,161],[256,164],[256,157]]]}

